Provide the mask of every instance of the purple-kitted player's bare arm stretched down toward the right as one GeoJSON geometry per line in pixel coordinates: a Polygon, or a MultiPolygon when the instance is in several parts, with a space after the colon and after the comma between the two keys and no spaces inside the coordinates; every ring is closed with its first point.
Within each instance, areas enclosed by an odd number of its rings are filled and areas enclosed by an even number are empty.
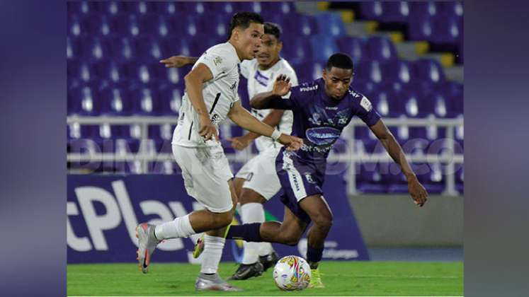
{"type": "Polygon", "coordinates": [[[382,145],[386,148],[389,156],[392,157],[395,163],[399,164],[402,173],[406,176],[408,180],[408,191],[411,197],[414,199],[415,204],[423,206],[428,197],[428,192],[424,189],[423,185],[417,180],[417,177],[414,173],[414,170],[411,169],[408,161],[406,160],[406,155],[402,148],[400,147],[397,140],[393,134],[387,129],[386,125],[382,120],[369,127],[377,138],[382,142],[382,145]]]}

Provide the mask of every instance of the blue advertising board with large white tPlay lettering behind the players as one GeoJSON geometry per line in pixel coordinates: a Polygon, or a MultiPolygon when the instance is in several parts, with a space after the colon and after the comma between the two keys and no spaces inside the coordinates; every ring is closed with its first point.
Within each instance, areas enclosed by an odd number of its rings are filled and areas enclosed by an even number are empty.
{"type": "MultiPolygon", "coordinates": [[[[68,263],[135,262],[138,223],[171,221],[203,208],[188,196],[181,175],[68,175],[67,183],[68,263]]],[[[327,175],[324,192],[334,224],[323,260],[369,260],[341,176],[327,175]]],[[[284,206],[277,196],[265,204],[267,220],[283,219],[284,206]]],[[[273,247],[280,256],[305,256],[306,235],[297,246],[273,247]]],[[[153,261],[200,262],[191,255],[198,236],[165,240],[153,261]]],[[[222,260],[239,262],[241,248],[240,240],[227,240],[222,260]]]]}

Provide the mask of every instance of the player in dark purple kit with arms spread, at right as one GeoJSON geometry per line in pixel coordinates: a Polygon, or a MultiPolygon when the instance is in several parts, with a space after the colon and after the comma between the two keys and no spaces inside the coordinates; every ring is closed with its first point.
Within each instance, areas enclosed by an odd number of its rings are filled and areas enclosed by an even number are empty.
{"type": "Polygon", "coordinates": [[[423,206],[428,193],[411,170],[399,143],[373,109],[368,98],[351,88],[353,62],[346,54],[333,54],[323,71],[323,78],[291,88],[290,80],[280,76],[273,91],[251,99],[255,109],[292,110],[292,135],[303,139],[297,152],[281,149],[275,163],[284,194],[283,222],[251,223],[231,226],[229,239],[267,241],[296,245],[312,221],[307,235],[307,261],[312,269],[312,287],[323,287],[318,263],[322,260],[324,240],[332,226],[332,214],[323,197],[326,158],[341,131],[354,115],[360,117],[400,165],[408,180],[408,190],[415,204],[423,206]],[[282,96],[290,93],[290,100],[282,96]]]}

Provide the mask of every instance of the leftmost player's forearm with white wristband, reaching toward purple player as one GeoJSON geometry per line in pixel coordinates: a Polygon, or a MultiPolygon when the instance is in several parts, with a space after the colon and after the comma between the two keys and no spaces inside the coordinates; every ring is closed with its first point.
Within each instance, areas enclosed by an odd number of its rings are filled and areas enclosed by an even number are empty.
{"type": "Polygon", "coordinates": [[[248,112],[248,110],[242,107],[240,101],[234,103],[232,109],[229,110],[228,117],[235,124],[238,124],[240,127],[250,132],[271,137],[275,141],[278,141],[280,144],[286,146],[289,151],[297,151],[303,144],[302,139],[297,138],[296,136],[290,136],[278,132],[278,130],[275,130],[273,127],[268,126],[268,124],[257,120],[256,117],[254,117],[253,115],[251,115],[250,112],[248,112]]]}

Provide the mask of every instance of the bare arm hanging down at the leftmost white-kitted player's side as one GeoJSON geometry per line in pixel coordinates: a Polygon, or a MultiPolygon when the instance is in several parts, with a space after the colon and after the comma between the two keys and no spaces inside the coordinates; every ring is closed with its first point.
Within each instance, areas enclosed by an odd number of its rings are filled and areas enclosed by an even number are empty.
{"type": "Polygon", "coordinates": [[[204,98],[202,95],[203,84],[206,81],[210,81],[213,78],[213,74],[205,64],[199,63],[195,69],[191,70],[183,79],[186,82],[186,91],[188,98],[197,112],[198,118],[200,119],[200,129],[198,134],[203,136],[204,140],[217,139],[219,140],[219,134],[217,128],[211,122],[210,115],[207,112],[204,98]]]}

